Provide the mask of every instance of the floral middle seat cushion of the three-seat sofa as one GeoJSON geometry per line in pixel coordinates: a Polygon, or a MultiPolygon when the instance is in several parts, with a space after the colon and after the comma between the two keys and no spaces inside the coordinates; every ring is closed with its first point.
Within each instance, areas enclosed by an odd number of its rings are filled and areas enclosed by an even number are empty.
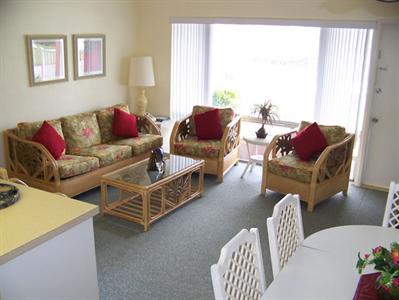
{"type": "Polygon", "coordinates": [[[105,167],[132,157],[132,149],[129,146],[100,144],[79,149],[78,155],[97,157],[100,160],[100,167],[105,167]]]}

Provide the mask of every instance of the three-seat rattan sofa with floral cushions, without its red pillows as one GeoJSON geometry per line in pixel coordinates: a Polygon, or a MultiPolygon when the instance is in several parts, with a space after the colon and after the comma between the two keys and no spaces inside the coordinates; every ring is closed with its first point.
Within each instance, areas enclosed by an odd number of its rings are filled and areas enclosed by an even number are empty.
{"type": "Polygon", "coordinates": [[[59,160],[31,140],[42,121],[19,123],[17,128],[6,130],[9,175],[33,187],[74,196],[98,186],[103,174],[145,159],[152,149],[162,146],[158,126],[146,116],[137,117],[138,137],[114,137],[114,108],[129,112],[127,105],[118,104],[48,121],[66,143],[66,152],[59,160]]]}

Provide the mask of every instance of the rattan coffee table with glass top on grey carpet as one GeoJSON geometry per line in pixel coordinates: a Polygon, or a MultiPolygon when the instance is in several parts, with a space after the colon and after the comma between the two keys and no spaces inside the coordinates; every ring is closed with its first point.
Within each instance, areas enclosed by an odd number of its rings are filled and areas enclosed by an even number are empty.
{"type": "Polygon", "coordinates": [[[144,226],[202,195],[204,161],[166,155],[165,172],[147,171],[148,159],[101,177],[101,214],[144,226]],[[197,173],[198,175],[196,175],[197,173]]]}

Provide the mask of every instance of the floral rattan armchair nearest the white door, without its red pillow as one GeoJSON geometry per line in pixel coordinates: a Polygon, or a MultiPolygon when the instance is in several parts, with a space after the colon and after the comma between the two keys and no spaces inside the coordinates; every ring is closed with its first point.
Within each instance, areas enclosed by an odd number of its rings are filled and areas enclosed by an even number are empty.
{"type": "MultiPolygon", "coordinates": [[[[310,125],[302,121],[298,131],[310,125]]],[[[270,189],[284,194],[299,194],[308,211],[338,192],[347,194],[355,136],[341,126],[320,125],[328,144],[308,161],[301,160],[290,144],[297,131],[277,135],[265,150],[261,193],[270,189]]]]}

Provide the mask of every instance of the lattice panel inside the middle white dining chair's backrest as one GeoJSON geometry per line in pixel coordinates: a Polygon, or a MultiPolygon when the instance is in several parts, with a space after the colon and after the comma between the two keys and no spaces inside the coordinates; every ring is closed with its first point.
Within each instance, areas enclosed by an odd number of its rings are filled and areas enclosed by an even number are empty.
{"type": "Polygon", "coordinates": [[[300,245],[297,212],[294,203],[285,206],[280,212],[277,228],[277,246],[280,257],[280,268],[283,268],[288,259],[300,245]]]}

